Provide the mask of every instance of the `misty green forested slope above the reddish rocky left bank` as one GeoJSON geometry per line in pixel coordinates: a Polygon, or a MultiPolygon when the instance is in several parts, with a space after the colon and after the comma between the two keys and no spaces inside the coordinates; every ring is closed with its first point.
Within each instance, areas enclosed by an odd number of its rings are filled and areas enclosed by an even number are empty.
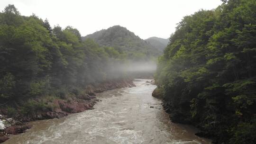
{"type": "Polygon", "coordinates": [[[112,47],[82,41],[76,28],[51,27],[9,5],[0,13],[0,106],[13,115],[48,108],[34,99],[64,99],[87,84],[125,78],[113,66],[126,59],[112,47]]]}

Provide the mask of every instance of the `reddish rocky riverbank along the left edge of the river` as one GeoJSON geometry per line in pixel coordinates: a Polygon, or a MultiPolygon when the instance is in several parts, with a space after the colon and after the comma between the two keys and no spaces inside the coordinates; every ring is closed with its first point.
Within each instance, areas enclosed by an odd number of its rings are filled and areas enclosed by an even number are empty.
{"type": "Polygon", "coordinates": [[[94,104],[99,101],[97,93],[114,90],[124,87],[136,86],[132,79],[106,81],[102,83],[94,83],[87,85],[84,91],[77,96],[70,96],[66,99],[34,99],[38,102],[43,101],[46,104],[46,109],[38,109],[33,113],[22,114],[19,113],[15,116],[10,116],[9,107],[0,108],[0,143],[9,139],[9,135],[16,135],[24,133],[31,126],[27,122],[42,119],[60,118],[65,117],[72,113],[79,113],[88,109],[93,109],[94,104]]]}

